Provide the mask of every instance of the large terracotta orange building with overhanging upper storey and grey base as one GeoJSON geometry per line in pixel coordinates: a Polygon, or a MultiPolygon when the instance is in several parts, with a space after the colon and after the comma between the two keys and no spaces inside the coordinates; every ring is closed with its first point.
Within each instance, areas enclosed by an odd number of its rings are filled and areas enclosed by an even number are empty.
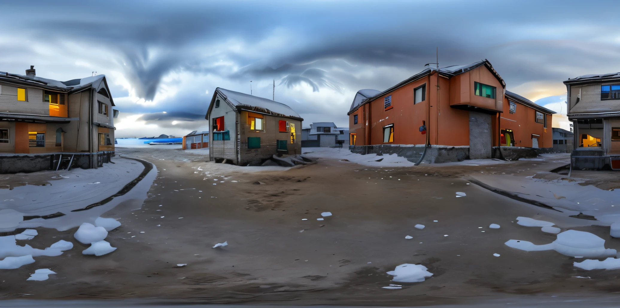
{"type": "MultiPolygon", "coordinates": [[[[500,138],[502,129],[505,137],[508,130],[515,136],[511,142],[521,138],[516,147],[532,147],[533,140],[524,140],[525,135],[539,135],[539,147],[552,147],[551,127],[546,135],[534,125],[539,124],[536,112],[544,108],[534,109],[536,104],[521,96],[505,95],[505,88],[502,77],[484,60],[427,67],[383,92],[360,90],[348,112],[353,152],[399,153],[410,161],[424,156],[429,163],[492,158],[494,147],[506,142],[500,138]],[[502,122],[511,101],[523,110],[502,122]],[[511,121],[520,125],[516,135],[511,121]]],[[[551,124],[551,117],[547,121],[551,124]]]]}

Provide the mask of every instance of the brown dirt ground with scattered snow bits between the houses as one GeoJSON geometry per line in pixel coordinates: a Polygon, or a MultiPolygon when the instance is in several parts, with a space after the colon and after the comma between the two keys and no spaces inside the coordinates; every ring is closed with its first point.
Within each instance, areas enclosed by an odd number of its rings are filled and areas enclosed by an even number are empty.
{"type": "MultiPolygon", "coordinates": [[[[17,270],[0,270],[1,297],[423,306],[620,291],[618,270],[586,272],[573,267],[574,258],[553,250],[505,246],[508,239],[554,241],[554,234],[515,220],[544,220],[552,210],[464,179],[479,172],[549,171],[563,161],[396,169],[326,159],[302,168],[241,173],[179,150],[119,148],[117,153],[151,161],[159,171],[140,210],[104,215],[121,218],[122,226],[106,239],[118,249],[101,257],[82,255],[86,246],[73,238],[75,229],[40,228],[42,245],[64,239],[75,248],[60,257],[38,257],[17,270]],[[455,192],[467,196],[457,198],[455,192]],[[321,212],[333,216],[317,221],[321,212]],[[489,229],[492,223],[501,228],[489,229]],[[416,224],[426,227],[415,229],[416,224]],[[228,246],[211,248],[224,241],[228,246]],[[383,289],[393,283],[386,272],[402,263],[425,265],[433,276],[422,283],[397,283],[402,289],[383,289]],[[58,274],[25,281],[36,268],[58,274]]],[[[609,237],[608,228],[575,229],[620,249],[620,239],[609,237]]]]}

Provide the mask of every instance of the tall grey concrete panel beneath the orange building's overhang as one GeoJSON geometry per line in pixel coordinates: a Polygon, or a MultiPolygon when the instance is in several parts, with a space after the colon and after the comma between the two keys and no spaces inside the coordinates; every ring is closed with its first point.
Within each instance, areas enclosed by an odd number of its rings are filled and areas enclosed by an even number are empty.
{"type": "Polygon", "coordinates": [[[469,158],[481,160],[491,158],[492,115],[469,111],[469,158]]]}

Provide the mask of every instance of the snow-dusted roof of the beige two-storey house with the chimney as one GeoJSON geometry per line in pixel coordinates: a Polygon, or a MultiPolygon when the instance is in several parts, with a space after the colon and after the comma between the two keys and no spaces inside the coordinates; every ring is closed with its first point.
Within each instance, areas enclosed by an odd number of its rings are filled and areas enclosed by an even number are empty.
{"type": "MultiPolygon", "coordinates": [[[[27,75],[19,75],[19,74],[11,74],[7,72],[0,72],[0,81],[9,82],[9,83],[17,83],[19,85],[25,85],[29,87],[35,88],[43,88],[45,90],[53,90],[58,92],[72,93],[78,92],[79,90],[84,90],[85,88],[92,87],[92,85],[97,86],[98,83],[104,82],[105,87],[108,88],[108,83],[105,81],[105,75],[95,75],[91,77],[86,77],[82,79],[72,79],[68,81],[58,81],[53,79],[47,79],[37,76],[27,76],[27,75]]],[[[110,103],[112,106],[114,105],[114,101],[110,96],[110,103]]]]}

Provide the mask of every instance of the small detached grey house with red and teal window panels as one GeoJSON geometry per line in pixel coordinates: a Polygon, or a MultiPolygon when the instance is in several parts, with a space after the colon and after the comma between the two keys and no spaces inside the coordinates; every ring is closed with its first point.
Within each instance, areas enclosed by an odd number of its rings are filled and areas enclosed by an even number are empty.
{"type": "Polygon", "coordinates": [[[277,101],[216,88],[206,113],[211,160],[260,165],[275,154],[301,154],[301,122],[277,101]]]}

